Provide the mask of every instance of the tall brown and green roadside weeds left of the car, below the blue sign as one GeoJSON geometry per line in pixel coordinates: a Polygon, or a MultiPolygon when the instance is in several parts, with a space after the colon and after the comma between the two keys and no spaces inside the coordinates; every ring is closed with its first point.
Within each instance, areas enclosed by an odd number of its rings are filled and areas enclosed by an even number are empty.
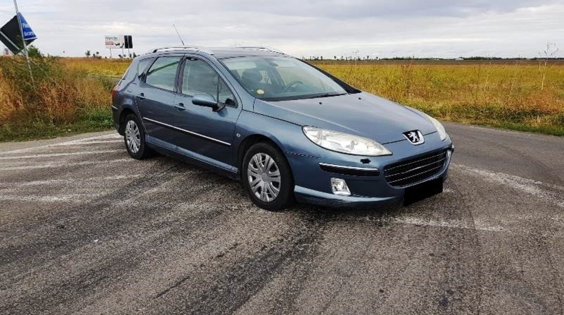
{"type": "Polygon", "coordinates": [[[0,57],[0,141],[107,130],[113,83],[56,57],[0,57]]]}

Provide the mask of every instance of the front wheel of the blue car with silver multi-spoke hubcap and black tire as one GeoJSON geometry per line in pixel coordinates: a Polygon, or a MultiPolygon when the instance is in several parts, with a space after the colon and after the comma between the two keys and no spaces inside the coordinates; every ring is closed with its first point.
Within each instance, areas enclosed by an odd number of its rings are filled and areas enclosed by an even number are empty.
{"type": "Polygon", "coordinates": [[[293,205],[292,170],[279,149],[267,142],[254,144],[245,153],[241,169],[243,187],[255,205],[268,211],[293,205]]]}

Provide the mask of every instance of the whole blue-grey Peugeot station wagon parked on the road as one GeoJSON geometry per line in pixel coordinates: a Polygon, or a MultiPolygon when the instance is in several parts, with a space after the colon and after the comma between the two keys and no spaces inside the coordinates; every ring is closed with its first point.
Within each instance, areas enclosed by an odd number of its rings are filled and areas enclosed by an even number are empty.
{"type": "Polygon", "coordinates": [[[241,180],[267,210],[442,192],[454,149],[425,113],[262,47],[155,49],[112,95],[131,157],[158,152],[241,180]]]}

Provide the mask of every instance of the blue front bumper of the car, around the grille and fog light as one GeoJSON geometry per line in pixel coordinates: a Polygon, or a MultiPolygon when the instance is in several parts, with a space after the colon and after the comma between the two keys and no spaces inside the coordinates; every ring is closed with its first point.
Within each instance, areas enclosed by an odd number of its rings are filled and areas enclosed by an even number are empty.
{"type": "MultiPolygon", "coordinates": [[[[359,157],[336,152],[324,152],[321,157],[310,157],[297,154],[288,154],[290,166],[294,174],[294,193],[298,202],[309,203],[327,207],[375,207],[403,201],[407,187],[418,183],[448,176],[454,147],[450,138],[440,141],[437,133],[425,136],[425,143],[412,145],[408,141],[398,141],[387,144],[386,147],[393,152],[392,156],[384,157],[359,157]],[[430,152],[447,150],[444,166],[416,183],[405,187],[393,187],[385,178],[384,170],[387,165],[407,161],[430,152]],[[321,165],[321,166],[320,166],[321,165]],[[363,170],[378,170],[372,174],[361,176],[338,173],[323,167],[324,165],[344,166],[363,170]],[[324,170],[322,170],[324,168],[324,170]],[[344,179],[350,189],[350,196],[339,196],[331,190],[331,178],[344,179]]],[[[354,172],[352,172],[354,174],[354,172]]]]}

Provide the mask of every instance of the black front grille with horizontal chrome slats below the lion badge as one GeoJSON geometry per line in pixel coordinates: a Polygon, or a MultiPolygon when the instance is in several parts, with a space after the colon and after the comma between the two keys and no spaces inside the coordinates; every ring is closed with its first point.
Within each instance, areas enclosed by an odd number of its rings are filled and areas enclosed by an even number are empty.
{"type": "Polygon", "coordinates": [[[448,159],[448,150],[433,152],[384,168],[384,177],[393,187],[405,187],[437,175],[448,159]]]}

